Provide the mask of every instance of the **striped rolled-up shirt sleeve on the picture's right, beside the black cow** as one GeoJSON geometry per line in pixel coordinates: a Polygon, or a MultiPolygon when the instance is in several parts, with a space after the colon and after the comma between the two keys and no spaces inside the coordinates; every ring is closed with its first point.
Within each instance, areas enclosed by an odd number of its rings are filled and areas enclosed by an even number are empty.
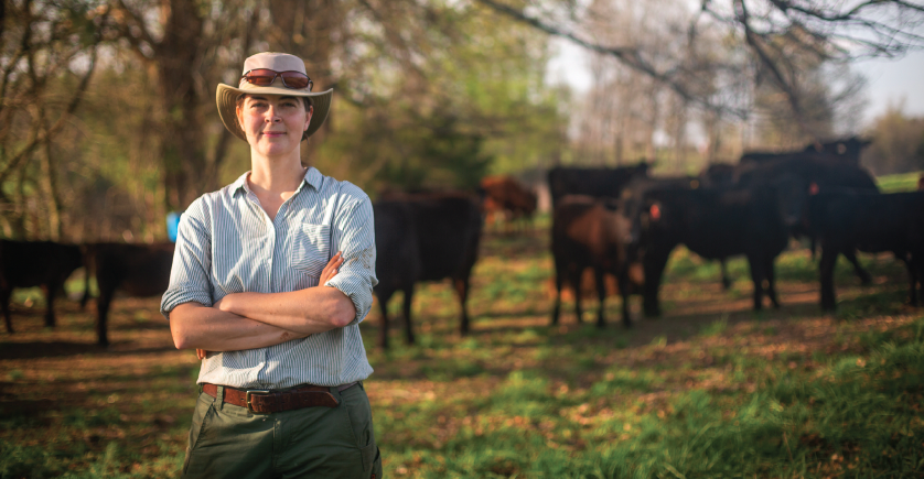
{"type": "Polygon", "coordinates": [[[343,252],[343,265],[334,277],[324,283],[336,287],[353,302],[356,317],[351,325],[362,322],[373,304],[375,276],[375,220],[369,197],[346,183],[346,195],[333,218],[333,246],[343,252]]]}

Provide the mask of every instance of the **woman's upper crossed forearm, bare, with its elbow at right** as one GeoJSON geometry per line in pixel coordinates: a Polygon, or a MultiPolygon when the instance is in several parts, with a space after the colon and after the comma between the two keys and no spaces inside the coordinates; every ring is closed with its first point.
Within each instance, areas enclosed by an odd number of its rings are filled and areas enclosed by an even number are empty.
{"type": "Polygon", "coordinates": [[[341,328],[356,317],[356,307],[340,290],[315,286],[287,293],[236,293],[218,309],[303,335],[341,328]]]}

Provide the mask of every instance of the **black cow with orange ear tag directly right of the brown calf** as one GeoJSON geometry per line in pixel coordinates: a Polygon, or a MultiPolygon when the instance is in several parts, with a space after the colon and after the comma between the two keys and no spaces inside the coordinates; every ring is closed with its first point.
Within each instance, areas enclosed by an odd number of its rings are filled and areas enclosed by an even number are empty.
{"type": "Polygon", "coordinates": [[[764,293],[780,306],[774,261],[786,248],[788,229],[776,189],[753,188],[648,189],[633,221],[630,258],[640,258],[645,271],[644,308],[658,316],[658,290],[670,252],[678,244],[708,260],[744,254],[754,283],[754,309],[764,293]],[[766,289],[764,289],[766,281],[766,289]]]}

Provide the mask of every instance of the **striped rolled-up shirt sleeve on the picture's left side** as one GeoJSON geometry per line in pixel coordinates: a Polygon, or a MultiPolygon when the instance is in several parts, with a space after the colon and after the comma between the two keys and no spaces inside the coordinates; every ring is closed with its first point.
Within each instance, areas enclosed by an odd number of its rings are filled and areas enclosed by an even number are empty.
{"type": "Polygon", "coordinates": [[[170,285],[161,300],[161,314],[170,319],[170,312],[184,303],[212,306],[212,235],[208,211],[203,198],[193,202],[180,218],[176,249],[170,270],[170,285]]]}

